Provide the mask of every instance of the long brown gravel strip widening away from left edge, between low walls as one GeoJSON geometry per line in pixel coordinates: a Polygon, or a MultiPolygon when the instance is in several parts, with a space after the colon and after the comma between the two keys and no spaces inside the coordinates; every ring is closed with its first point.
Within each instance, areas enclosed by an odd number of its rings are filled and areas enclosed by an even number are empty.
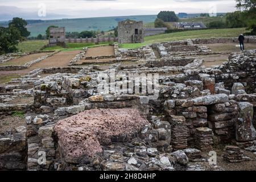
{"type": "Polygon", "coordinates": [[[0,71],[0,75],[22,75],[38,68],[67,67],[69,61],[71,61],[71,59],[75,57],[79,52],[80,51],[59,52],[53,56],[48,57],[47,59],[40,61],[39,63],[33,64],[30,68],[17,71],[0,71]]]}

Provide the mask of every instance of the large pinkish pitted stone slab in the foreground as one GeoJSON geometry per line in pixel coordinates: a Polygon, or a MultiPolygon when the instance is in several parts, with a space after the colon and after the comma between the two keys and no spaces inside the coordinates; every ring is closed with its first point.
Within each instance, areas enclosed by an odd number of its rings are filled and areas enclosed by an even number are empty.
{"type": "Polygon", "coordinates": [[[93,109],[57,122],[55,132],[65,161],[77,163],[102,152],[101,145],[126,142],[147,123],[136,109],[93,109]]]}

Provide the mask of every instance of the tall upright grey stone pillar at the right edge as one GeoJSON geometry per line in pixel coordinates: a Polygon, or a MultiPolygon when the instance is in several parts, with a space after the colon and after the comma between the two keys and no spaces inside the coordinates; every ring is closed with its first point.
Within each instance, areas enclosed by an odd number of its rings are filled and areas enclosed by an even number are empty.
{"type": "Polygon", "coordinates": [[[236,121],[236,139],[238,142],[255,140],[253,127],[253,105],[249,102],[238,103],[239,115],[236,121]]]}

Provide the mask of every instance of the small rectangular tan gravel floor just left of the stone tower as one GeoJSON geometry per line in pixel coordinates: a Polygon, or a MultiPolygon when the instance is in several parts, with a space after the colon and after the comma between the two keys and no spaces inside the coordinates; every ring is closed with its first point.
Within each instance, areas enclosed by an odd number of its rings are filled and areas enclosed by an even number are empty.
{"type": "Polygon", "coordinates": [[[89,48],[85,56],[90,57],[90,56],[108,56],[108,55],[114,55],[113,46],[101,46],[101,47],[89,48]]]}

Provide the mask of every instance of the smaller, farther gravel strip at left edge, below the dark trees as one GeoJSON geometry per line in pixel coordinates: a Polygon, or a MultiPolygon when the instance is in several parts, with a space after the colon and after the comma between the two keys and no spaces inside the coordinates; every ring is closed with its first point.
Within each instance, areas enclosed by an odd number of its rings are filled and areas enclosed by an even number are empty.
{"type": "Polygon", "coordinates": [[[28,62],[30,62],[32,60],[36,60],[39,57],[45,56],[45,55],[47,55],[46,52],[34,53],[34,54],[31,54],[31,55],[22,56],[22,57],[19,57],[19,58],[12,59],[10,61],[6,61],[5,63],[0,63],[0,66],[23,65],[23,64],[26,64],[26,63],[28,63],[28,62]]]}

